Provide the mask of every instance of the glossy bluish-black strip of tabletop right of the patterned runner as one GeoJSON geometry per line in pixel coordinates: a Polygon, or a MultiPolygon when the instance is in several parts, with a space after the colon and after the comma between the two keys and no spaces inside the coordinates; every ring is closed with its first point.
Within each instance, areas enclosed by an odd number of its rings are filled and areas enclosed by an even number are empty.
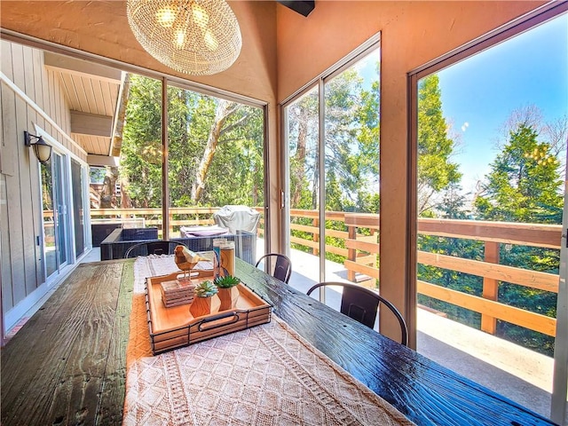
{"type": "Polygon", "coordinates": [[[236,274],[319,351],[421,425],[554,424],[249,264],[236,274]]]}

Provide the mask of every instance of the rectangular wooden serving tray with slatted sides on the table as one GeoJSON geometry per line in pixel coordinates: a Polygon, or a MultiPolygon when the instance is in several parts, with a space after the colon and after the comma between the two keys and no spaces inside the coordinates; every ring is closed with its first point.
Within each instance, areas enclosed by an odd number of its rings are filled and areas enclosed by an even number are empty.
{"type": "MultiPolygon", "coordinates": [[[[236,306],[227,311],[219,312],[217,295],[212,296],[209,315],[194,318],[189,311],[191,304],[166,308],[160,283],[176,280],[181,273],[146,278],[146,314],[154,355],[270,322],[272,305],[242,283],[237,286],[240,295],[236,306]]],[[[192,281],[198,284],[208,279],[199,276],[192,281]]]]}

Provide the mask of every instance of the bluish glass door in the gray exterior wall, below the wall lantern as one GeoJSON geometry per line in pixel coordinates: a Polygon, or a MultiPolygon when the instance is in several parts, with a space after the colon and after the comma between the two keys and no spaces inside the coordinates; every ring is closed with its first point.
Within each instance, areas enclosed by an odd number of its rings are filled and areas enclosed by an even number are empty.
{"type": "Polygon", "coordinates": [[[46,279],[67,264],[67,201],[63,157],[42,164],[43,257],[46,279]]]}

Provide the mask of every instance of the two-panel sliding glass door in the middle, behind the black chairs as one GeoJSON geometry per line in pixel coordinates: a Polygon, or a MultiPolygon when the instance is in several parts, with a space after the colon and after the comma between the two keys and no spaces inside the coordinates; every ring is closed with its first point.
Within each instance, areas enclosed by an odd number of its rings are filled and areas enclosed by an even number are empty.
{"type": "MultiPolygon", "coordinates": [[[[378,43],[376,36],[284,106],[284,241],[290,285],[303,292],[321,281],[378,284],[378,43]]],[[[327,302],[338,307],[338,296],[327,302]]]]}

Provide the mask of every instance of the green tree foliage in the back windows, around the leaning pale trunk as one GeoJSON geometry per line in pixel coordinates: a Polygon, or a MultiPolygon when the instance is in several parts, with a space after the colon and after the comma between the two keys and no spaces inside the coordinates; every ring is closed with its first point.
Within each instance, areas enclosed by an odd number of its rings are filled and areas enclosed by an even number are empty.
{"type": "MultiPolygon", "coordinates": [[[[132,207],[162,206],[162,83],[130,79],[121,176],[132,207]]],[[[168,87],[169,184],[172,207],[264,204],[264,114],[229,103],[203,191],[192,198],[205,147],[216,130],[219,99],[168,87]]]]}

